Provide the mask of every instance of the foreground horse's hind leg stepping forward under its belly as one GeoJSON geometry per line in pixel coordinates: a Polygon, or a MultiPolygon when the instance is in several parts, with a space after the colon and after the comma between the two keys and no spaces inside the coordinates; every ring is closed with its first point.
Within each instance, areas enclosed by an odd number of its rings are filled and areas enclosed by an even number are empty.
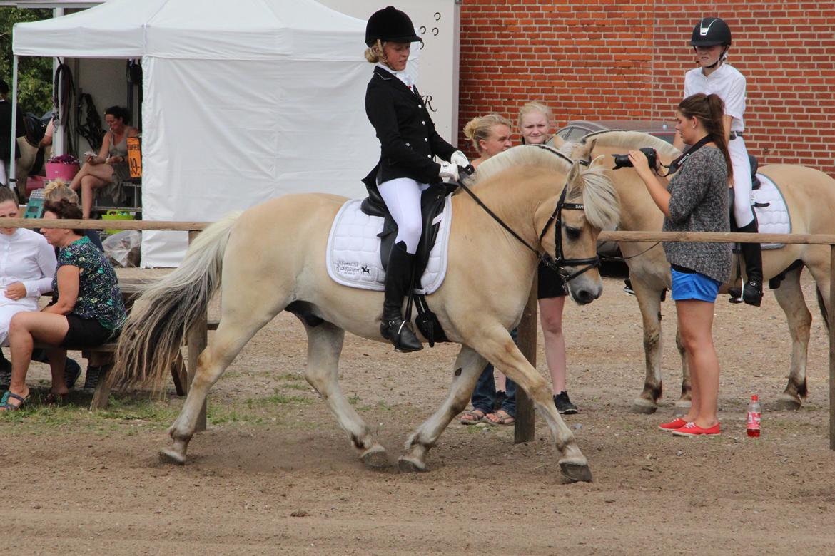
{"type": "MultiPolygon", "coordinates": [[[[303,321],[302,321],[303,322],[303,321]]],[[[386,449],[374,442],[367,424],[348,403],[342,388],[339,388],[339,355],[342,353],[342,341],[345,331],[331,323],[308,326],[307,331],[307,367],[305,378],[321,398],[327,408],[337,418],[339,426],[350,436],[354,448],[360,452],[360,459],[370,468],[388,467],[386,449]]]]}

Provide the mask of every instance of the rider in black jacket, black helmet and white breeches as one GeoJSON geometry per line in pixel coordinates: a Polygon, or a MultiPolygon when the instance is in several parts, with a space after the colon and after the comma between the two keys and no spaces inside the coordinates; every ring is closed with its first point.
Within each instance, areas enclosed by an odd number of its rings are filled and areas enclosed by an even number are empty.
{"type": "Polygon", "coordinates": [[[423,344],[403,321],[403,298],[412,283],[412,268],[420,241],[420,198],[430,183],[458,181],[458,166],[469,161],[444,141],[429,116],[423,98],[404,71],[411,43],[423,42],[412,20],[389,6],[372,14],[366,26],[366,59],[376,63],[366,90],[366,114],[380,140],[380,161],[362,181],[378,188],[397,223],[388,259],[380,333],[402,352],[423,344]],[[448,163],[436,163],[434,156],[448,163]]]}

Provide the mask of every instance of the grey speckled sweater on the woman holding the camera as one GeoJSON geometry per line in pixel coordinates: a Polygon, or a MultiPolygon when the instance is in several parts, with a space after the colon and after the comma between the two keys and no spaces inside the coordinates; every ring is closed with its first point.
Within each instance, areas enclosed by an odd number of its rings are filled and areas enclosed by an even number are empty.
{"type": "MultiPolygon", "coordinates": [[[[670,216],[665,232],[729,232],[728,174],[725,157],[718,148],[702,147],[676,176],[667,190],[671,194],[670,216]]],[[[721,283],[731,278],[731,243],[664,243],[671,264],[695,270],[721,283]]]]}

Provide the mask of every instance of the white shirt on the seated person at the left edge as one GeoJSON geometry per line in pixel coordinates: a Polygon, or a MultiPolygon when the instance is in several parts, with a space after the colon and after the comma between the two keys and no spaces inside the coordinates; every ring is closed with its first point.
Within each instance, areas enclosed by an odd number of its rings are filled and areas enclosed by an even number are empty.
{"type": "MultiPolygon", "coordinates": [[[[40,233],[18,228],[11,235],[0,233],[0,290],[21,282],[26,297],[38,298],[52,291],[57,266],[55,249],[40,233]]],[[[0,303],[8,298],[0,291],[0,303]]]]}

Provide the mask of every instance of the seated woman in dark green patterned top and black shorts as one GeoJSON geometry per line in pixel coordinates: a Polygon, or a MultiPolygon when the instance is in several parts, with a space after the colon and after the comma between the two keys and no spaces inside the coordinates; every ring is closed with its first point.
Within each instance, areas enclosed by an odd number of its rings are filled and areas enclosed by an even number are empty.
{"type": "MultiPolygon", "coordinates": [[[[64,199],[48,203],[43,218],[81,218],[81,210],[64,199]]],[[[0,411],[13,411],[27,402],[26,373],[34,343],[52,346],[47,351],[53,377],[47,401],[56,401],[68,392],[63,378],[67,348],[106,343],[124,323],[122,293],[104,253],[83,237],[83,230],[43,228],[42,232],[50,245],[59,248],[52,284],[58,301],[42,311],[18,313],[12,318],[12,382],[0,400],[0,411]]]]}

